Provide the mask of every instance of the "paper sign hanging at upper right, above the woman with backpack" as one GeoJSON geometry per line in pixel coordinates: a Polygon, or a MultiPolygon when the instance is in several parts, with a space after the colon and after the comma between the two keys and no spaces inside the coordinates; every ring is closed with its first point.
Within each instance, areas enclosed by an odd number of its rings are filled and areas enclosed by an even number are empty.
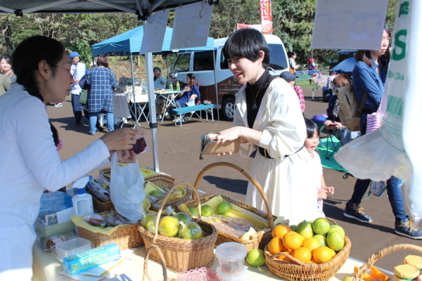
{"type": "Polygon", "coordinates": [[[318,0],[311,48],[378,50],[388,1],[318,0]]]}

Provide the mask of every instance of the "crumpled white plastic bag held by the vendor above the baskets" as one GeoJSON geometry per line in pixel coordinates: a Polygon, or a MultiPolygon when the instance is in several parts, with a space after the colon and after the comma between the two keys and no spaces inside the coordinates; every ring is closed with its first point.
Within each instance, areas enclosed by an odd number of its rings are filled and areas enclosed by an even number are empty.
{"type": "Polygon", "coordinates": [[[110,197],[116,211],[127,218],[131,223],[136,223],[146,214],[142,207],[145,198],[143,190],[143,176],[139,169],[138,161],[120,165],[117,152],[111,157],[110,197]]]}

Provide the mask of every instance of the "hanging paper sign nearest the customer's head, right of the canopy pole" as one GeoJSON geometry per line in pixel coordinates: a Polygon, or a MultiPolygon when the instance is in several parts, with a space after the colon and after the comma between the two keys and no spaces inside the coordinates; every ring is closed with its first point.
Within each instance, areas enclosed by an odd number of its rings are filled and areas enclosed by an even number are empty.
{"type": "Polygon", "coordinates": [[[212,6],[207,1],[176,8],[170,49],[188,49],[207,46],[212,6]]]}

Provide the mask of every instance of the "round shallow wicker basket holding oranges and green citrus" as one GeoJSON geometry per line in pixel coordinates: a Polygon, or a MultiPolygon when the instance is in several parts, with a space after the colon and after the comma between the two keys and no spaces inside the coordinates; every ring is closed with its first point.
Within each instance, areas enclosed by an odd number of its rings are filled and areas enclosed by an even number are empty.
{"type": "MultiPolygon", "coordinates": [[[[328,218],[329,221],[333,221],[328,218]]],[[[326,263],[303,263],[298,259],[293,258],[286,253],[271,254],[268,251],[268,246],[265,247],[265,262],[269,270],[275,275],[290,281],[327,281],[330,280],[335,273],[347,261],[347,257],[350,253],[350,247],[352,243],[349,238],[345,236],[345,247],[341,249],[330,261],[326,263]],[[287,261],[281,261],[277,259],[277,256],[288,256],[288,258],[295,263],[289,263],[287,261]]]]}

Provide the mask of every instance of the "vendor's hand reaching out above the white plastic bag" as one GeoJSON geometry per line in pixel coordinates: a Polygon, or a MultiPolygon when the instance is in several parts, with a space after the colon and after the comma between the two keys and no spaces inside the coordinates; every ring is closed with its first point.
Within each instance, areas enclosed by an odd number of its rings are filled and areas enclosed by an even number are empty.
{"type": "Polygon", "coordinates": [[[100,139],[107,145],[108,150],[129,150],[136,143],[136,135],[144,136],[145,133],[137,129],[115,129],[100,139]]]}

